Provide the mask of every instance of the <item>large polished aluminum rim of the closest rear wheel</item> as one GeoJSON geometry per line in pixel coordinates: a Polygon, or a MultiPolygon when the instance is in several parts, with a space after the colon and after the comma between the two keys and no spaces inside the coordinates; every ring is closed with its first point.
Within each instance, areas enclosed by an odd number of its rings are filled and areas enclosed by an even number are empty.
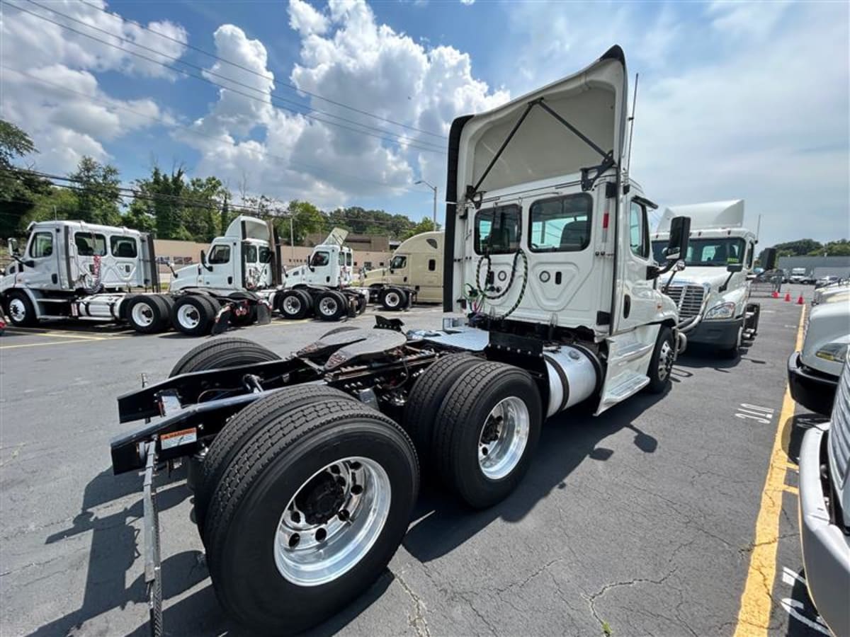
{"type": "Polygon", "coordinates": [[[391,500],[389,476],[375,460],[352,456],[322,467],[297,489],[280,516],[275,530],[278,571],[299,586],[319,586],[340,578],[377,541],[391,500]],[[308,512],[300,508],[317,480],[333,480],[339,491],[338,510],[319,521],[308,519],[309,507],[303,507],[308,512]]]}

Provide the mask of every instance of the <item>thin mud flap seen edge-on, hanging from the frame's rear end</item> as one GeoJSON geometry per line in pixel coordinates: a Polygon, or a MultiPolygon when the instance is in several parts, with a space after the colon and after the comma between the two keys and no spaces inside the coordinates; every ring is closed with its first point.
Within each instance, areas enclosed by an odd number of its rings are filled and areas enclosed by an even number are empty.
{"type": "Polygon", "coordinates": [[[159,513],[156,510],[156,443],[147,443],[144,465],[144,518],[142,533],[144,538],[144,585],[150,611],[150,634],[161,637],[162,629],[162,577],[160,562],[159,513]]]}

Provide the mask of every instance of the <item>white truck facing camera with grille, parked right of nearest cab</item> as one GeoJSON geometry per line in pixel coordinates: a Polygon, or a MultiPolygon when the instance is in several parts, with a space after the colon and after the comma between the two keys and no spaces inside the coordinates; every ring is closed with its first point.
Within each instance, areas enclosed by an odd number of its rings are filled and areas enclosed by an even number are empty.
{"type": "MultiPolygon", "coordinates": [[[[744,227],[744,201],[712,201],[671,206],[653,234],[656,259],[663,258],[670,224],[690,217],[690,241],[684,262],[688,272],[664,282],[666,294],[676,302],[683,318],[699,317],[688,334],[690,343],[704,343],[734,358],[742,343],[756,337],[760,306],[750,302],[750,280],[757,237],[744,227]]],[[[774,268],[771,262],[762,264],[774,268]]]]}

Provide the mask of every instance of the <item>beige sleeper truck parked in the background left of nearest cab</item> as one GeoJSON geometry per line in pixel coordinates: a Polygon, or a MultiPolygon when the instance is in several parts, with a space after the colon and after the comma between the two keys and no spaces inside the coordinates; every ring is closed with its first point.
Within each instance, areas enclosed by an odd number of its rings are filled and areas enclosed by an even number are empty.
{"type": "Polygon", "coordinates": [[[366,273],[360,285],[369,289],[371,302],[386,310],[409,307],[412,302],[443,302],[443,244],[445,232],[423,232],[402,241],[387,268],[366,273]]]}

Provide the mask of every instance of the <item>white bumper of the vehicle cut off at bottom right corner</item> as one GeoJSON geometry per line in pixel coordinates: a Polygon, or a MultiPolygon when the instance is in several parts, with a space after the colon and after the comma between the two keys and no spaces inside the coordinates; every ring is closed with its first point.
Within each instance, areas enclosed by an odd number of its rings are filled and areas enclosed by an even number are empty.
{"type": "Polygon", "coordinates": [[[850,538],[830,521],[825,490],[829,478],[821,479],[825,459],[827,426],[813,426],[800,449],[800,544],[806,569],[808,595],[833,634],[850,634],[847,591],[850,590],[850,538]]]}

